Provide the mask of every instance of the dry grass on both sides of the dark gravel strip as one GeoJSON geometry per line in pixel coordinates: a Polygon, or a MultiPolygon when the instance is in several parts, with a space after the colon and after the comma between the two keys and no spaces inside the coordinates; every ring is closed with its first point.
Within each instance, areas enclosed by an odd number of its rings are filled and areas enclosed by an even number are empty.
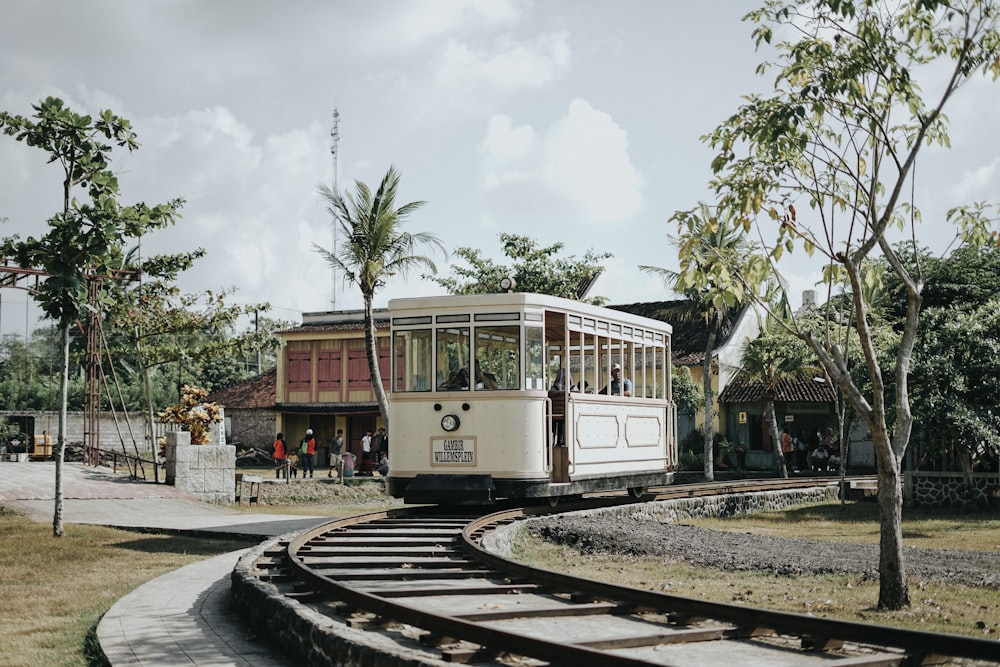
{"type": "MultiPolygon", "coordinates": [[[[867,504],[865,504],[867,505],[867,504]]],[[[699,519],[699,526],[769,535],[841,541],[878,541],[878,521],[869,508],[843,512],[839,505],[811,506],[739,519],[699,519]],[[874,540],[872,539],[874,531],[874,540]]],[[[877,511],[877,510],[876,510],[877,511]]],[[[913,513],[911,513],[913,514],[913,513]]],[[[930,548],[1000,550],[1000,521],[985,515],[924,512],[905,521],[907,545],[930,548]]],[[[859,576],[778,577],[729,572],[656,557],[582,555],[521,531],[515,543],[519,560],[575,576],[628,584],[674,595],[717,602],[808,613],[917,630],[1000,636],[1000,595],[996,590],[910,579],[909,609],[880,612],[878,582],[859,576]]],[[[1000,556],[998,556],[1000,558],[1000,556]]]]}

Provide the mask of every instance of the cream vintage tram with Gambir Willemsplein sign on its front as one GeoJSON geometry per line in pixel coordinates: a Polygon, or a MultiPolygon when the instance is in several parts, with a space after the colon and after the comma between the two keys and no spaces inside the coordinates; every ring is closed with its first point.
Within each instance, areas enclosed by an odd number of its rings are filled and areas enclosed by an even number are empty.
{"type": "Polygon", "coordinates": [[[513,291],[393,299],[389,316],[393,497],[554,503],[673,481],[670,325],[513,291]]]}

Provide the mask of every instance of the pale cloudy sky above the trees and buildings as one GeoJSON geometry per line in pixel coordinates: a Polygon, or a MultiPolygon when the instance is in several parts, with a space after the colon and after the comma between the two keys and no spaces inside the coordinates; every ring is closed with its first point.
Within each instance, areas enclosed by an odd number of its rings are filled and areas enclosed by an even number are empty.
{"type": "MultiPolygon", "coordinates": [[[[426,202],[407,231],[497,261],[502,232],[609,252],[592,296],[660,300],[675,295],[638,266],[677,268],[670,216],[712,200],[701,137],[770,86],[741,20],[758,4],[6,0],[0,109],[57,96],[128,118],[141,146],[115,155],[122,201],[185,200],[143,254],[202,247],[183,291],[233,288],[274,318],[362,307],[314,250],[334,244],[318,187],[374,188],[390,166],[398,203],[426,202]]],[[[948,208],[1000,200],[998,109],[1000,85],[973,82],[948,108],[951,150],[921,163],[932,247],[950,238],[948,208]]],[[[42,151],[0,136],[0,237],[44,234],[60,195],[42,151]]],[[[782,271],[793,296],[820,278],[801,253],[782,271]]],[[[441,293],[411,274],[375,305],[441,293]]],[[[25,292],[0,290],[5,333],[37,316],[25,292]]]]}

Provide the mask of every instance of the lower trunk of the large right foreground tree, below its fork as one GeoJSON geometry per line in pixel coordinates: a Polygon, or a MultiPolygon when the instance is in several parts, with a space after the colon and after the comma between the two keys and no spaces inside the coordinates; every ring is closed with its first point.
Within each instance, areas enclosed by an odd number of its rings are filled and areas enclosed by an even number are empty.
{"type": "Polygon", "coordinates": [[[878,608],[896,610],[910,606],[903,559],[903,488],[899,462],[888,440],[879,442],[878,435],[875,438],[879,509],[878,608]]]}

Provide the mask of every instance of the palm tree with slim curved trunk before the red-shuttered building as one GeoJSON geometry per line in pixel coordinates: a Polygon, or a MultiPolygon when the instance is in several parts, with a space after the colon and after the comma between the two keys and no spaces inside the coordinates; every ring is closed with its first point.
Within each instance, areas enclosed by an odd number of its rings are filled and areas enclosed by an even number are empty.
{"type": "Polygon", "coordinates": [[[407,216],[424,205],[415,201],[396,208],[396,189],[399,186],[399,172],[395,167],[382,178],[374,196],[371,189],[360,181],[355,181],[355,193],[341,196],[327,186],[320,186],[319,192],[326,199],[334,224],[338,225],[338,235],[346,239],[333,252],[313,244],[335,270],[340,271],[347,281],[361,290],[365,302],[365,350],[368,353],[368,370],[371,373],[375,400],[386,428],[389,427],[389,400],[382,386],[382,373],[378,368],[378,354],[375,346],[375,320],[372,316],[372,302],[375,292],[383,287],[386,280],[397,275],[406,275],[410,270],[422,267],[437,273],[434,261],[425,255],[415,254],[421,246],[439,249],[444,245],[434,234],[421,232],[410,234],[400,230],[407,216]]]}

